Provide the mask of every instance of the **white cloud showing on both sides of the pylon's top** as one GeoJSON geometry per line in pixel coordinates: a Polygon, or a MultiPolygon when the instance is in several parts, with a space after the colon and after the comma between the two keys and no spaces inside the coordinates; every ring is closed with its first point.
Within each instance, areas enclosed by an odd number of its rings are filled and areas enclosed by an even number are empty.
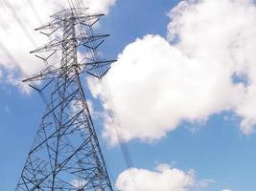
{"type": "MultiPolygon", "coordinates": [[[[91,12],[107,13],[115,0],[85,0],[91,12]]],[[[49,16],[68,8],[67,0],[0,1],[0,81],[22,86],[21,78],[45,67],[30,54],[48,38],[34,29],[49,22],[49,16]]],[[[23,86],[24,91],[28,91],[23,86]]]]}

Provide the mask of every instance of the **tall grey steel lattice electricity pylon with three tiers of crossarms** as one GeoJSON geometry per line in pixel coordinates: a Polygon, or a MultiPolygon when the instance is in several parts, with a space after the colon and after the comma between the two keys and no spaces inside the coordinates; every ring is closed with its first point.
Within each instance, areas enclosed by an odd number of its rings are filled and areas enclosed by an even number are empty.
{"type": "Polygon", "coordinates": [[[81,85],[81,74],[102,77],[115,61],[101,60],[96,52],[107,36],[92,29],[101,16],[71,8],[52,15],[49,24],[36,29],[46,35],[62,32],[62,37],[32,52],[47,67],[24,81],[39,92],[47,109],[16,191],[113,190],[81,85]],[[59,62],[51,64],[56,55],[61,55],[59,62]]]}

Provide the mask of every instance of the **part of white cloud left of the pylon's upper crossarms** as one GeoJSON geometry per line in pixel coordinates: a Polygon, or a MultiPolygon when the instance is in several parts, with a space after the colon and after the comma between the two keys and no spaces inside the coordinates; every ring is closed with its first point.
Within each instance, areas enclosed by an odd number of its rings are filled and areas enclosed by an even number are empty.
{"type": "MultiPolygon", "coordinates": [[[[25,72],[33,74],[43,66],[40,60],[29,52],[34,50],[36,45],[44,44],[47,39],[34,31],[42,23],[36,18],[27,0],[9,2],[11,6],[1,1],[0,7],[0,66],[7,71],[6,76],[2,76],[2,80],[16,84],[17,75],[25,75],[25,72]],[[21,25],[18,24],[19,21],[21,25]]],[[[57,4],[58,1],[33,1],[37,14],[45,23],[58,8],[57,4]]]]}

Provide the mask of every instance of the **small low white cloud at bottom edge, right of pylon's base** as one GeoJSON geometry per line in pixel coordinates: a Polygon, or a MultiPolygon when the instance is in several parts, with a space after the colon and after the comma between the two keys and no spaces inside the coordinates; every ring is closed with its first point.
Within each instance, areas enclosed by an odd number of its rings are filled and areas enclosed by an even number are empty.
{"type": "Polygon", "coordinates": [[[183,172],[167,164],[160,164],[155,171],[137,168],[126,170],[119,175],[116,188],[119,191],[187,191],[192,188],[207,187],[211,183],[210,180],[203,185],[200,182],[196,179],[193,170],[183,172]]]}

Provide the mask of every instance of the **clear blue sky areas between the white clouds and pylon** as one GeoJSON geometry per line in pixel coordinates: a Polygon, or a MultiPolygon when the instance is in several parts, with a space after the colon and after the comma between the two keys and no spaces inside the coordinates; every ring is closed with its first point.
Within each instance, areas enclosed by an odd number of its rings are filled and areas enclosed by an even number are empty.
{"type": "MultiPolygon", "coordinates": [[[[97,30],[111,34],[101,53],[116,58],[129,43],[146,34],[166,38],[170,23],[167,14],[177,4],[178,1],[170,0],[117,0],[97,30]]],[[[86,93],[88,95],[88,89],[86,93]]],[[[24,94],[16,86],[3,81],[0,95],[0,190],[12,191],[45,106],[35,92],[24,94]]],[[[88,97],[95,105],[100,104],[100,100],[88,97]]],[[[200,188],[205,191],[255,190],[255,134],[244,135],[240,130],[242,118],[234,111],[213,112],[206,118],[198,123],[182,120],[175,130],[151,142],[131,139],[128,147],[134,167],[153,171],[157,164],[166,163],[184,172],[193,169],[197,180],[213,180],[207,187],[200,188]]],[[[104,121],[95,120],[100,136],[104,121]]],[[[107,140],[100,139],[111,176],[117,179],[126,170],[120,148],[107,146],[107,140]]]]}

